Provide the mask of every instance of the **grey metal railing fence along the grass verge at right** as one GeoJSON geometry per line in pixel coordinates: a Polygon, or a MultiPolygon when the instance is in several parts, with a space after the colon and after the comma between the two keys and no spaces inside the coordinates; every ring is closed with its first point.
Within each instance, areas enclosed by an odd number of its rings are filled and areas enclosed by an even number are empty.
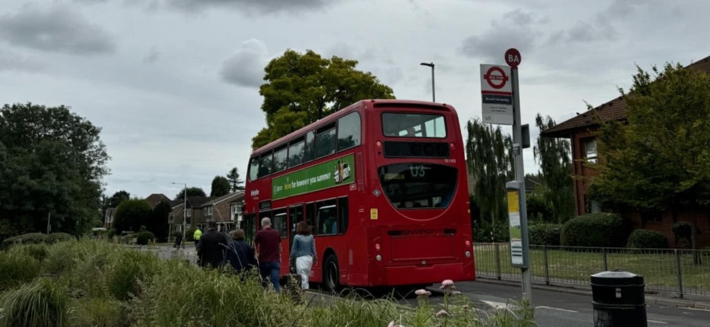
{"type": "MultiPolygon", "coordinates": [[[[475,243],[474,259],[476,277],[520,280],[509,243],[475,243]]],[[[647,292],[710,296],[710,250],[530,245],[535,283],[588,287],[590,275],[616,269],[642,275],[647,292]]]]}

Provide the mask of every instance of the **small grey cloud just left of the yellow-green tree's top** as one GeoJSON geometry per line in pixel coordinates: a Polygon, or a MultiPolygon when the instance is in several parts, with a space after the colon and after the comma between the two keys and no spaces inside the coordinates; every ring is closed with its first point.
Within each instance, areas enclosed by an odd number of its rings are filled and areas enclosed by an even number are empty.
{"type": "Polygon", "coordinates": [[[219,75],[229,84],[259,87],[263,84],[264,67],[267,62],[266,45],[261,40],[248,40],[222,62],[219,75]]]}

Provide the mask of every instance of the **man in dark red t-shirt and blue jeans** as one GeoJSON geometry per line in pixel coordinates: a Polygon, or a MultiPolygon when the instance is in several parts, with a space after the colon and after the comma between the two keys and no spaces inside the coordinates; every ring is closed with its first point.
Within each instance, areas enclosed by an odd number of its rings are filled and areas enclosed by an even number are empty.
{"type": "Polygon", "coordinates": [[[254,237],[254,245],[259,253],[259,271],[263,286],[268,286],[268,278],[278,293],[281,272],[281,234],[271,228],[271,219],[265,217],[261,219],[261,231],[254,237]]]}

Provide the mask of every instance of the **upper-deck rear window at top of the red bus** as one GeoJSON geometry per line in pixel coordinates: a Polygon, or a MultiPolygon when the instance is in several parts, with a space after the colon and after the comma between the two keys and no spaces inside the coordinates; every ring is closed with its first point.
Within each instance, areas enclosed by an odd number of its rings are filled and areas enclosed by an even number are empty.
{"type": "Polygon", "coordinates": [[[395,138],[446,138],[443,115],[431,113],[382,114],[382,133],[395,138]]]}

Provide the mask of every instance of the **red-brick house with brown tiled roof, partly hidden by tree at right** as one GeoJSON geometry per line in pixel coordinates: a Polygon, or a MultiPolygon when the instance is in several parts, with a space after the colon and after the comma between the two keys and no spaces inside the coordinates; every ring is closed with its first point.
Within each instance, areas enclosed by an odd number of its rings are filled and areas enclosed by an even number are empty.
{"type": "MultiPolygon", "coordinates": [[[[688,69],[699,70],[710,74],[710,57],[692,63],[688,69]]],[[[574,183],[574,204],[576,214],[583,215],[601,211],[599,203],[587,197],[590,178],[599,176],[599,172],[584,165],[584,159],[596,162],[596,140],[593,133],[599,129],[594,121],[595,116],[602,121],[626,121],[626,104],[618,96],[594,109],[578,114],[573,118],[558,123],[557,126],[542,131],[540,137],[568,138],[572,145],[572,175],[574,183]]],[[[701,232],[697,242],[699,248],[710,245],[710,213],[679,212],[679,211],[628,211],[621,213],[633,223],[633,228],[644,228],[664,233],[672,247],[678,246],[672,232],[672,226],[678,221],[692,221],[701,232]]]]}

